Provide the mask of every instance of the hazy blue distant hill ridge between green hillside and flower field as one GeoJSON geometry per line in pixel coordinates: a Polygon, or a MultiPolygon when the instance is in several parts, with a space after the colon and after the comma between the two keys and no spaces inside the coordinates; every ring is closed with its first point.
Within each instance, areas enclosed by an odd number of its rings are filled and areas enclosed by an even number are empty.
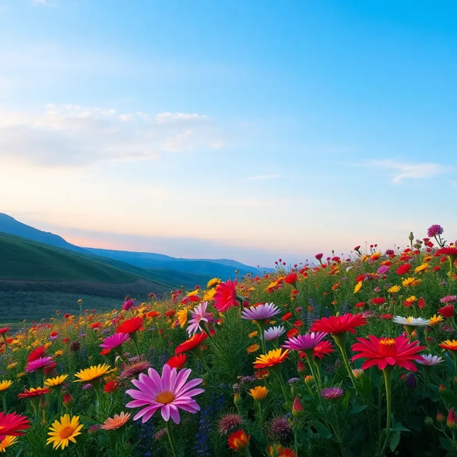
{"type": "Polygon", "coordinates": [[[186,271],[211,277],[218,276],[224,281],[227,278],[233,279],[235,270],[237,270],[240,275],[246,275],[247,273],[255,274],[258,272],[258,268],[244,265],[235,260],[182,259],[149,252],[130,252],[94,248],[85,249],[96,255],[121,260],[122,262],[128,262],[143,268],[165,268],[167,270],[186,271]]]}

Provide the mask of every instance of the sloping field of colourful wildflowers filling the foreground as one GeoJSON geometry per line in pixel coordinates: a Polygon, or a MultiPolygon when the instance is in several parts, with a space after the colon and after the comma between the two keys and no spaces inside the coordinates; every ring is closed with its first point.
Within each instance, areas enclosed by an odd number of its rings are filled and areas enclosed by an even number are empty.
{"type": "Polygon", "coordinates": [[[0,329],[0,452],[457,455],[457,247],[425,234],[0,329]]]}

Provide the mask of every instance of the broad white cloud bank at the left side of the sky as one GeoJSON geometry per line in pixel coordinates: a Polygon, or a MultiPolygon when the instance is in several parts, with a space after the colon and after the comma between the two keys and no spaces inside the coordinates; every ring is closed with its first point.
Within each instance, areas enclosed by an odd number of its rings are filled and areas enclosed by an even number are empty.
{"type": "MultiPolygon", "coordinates": [[[[155,114],[48,103],[45,111],[0,111],[0,159],[41,166],[81,166],[100,160],[157,159],[165,152],[225,144],[213,122],[155,122],[155,114]]],[[[206,116],[204,116],[207,118],[206,116]]]]}

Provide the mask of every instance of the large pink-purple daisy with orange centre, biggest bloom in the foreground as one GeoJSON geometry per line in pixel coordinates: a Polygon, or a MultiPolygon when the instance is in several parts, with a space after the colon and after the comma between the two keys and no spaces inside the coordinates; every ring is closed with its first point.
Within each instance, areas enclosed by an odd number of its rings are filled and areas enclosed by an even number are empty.
{"type": "Polygon", "coordinates": [[[186,383],[191,371],[188,368],[177,373],[176,368],[170,368],[165,364],[162,368],[162,377],[154,368],[149,368],[148,376],[141,373],[138,380],[133,379],[133,385],[139,390],[128,389],[126,391],[133,398],[133,401],[126,404],[126,407],[146,407],[137,413],[133,420],[142,417],[141,422],[144,424],[160,408],[165,421],[170,420],[171,417],[176,424],[179,424],[181,418],[178,408],[192,414],[199,411],[200,406],[192,397],[203,393],[205,390],[195,388],[203,381],[200,378],[192,379],[186,383]]]}

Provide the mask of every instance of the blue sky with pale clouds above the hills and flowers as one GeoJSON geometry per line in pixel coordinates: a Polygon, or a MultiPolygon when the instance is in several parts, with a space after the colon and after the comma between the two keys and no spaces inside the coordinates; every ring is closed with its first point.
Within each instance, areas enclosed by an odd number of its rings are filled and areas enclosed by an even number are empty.
{"type": "Polygon", "coordinates": [[[457,237],[452,1],[0,0],[0,212],[271,266],[457,237]]]}

